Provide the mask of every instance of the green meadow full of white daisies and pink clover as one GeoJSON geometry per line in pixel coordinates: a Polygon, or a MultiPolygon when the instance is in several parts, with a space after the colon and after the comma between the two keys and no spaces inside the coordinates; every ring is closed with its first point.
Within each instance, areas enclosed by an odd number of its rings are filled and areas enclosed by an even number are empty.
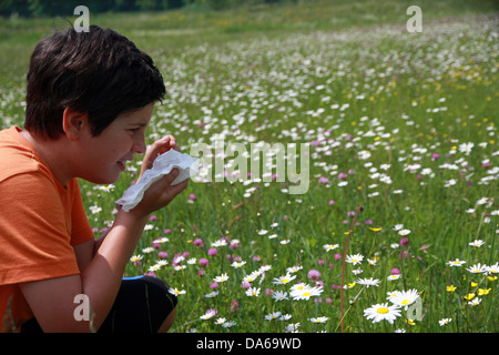
{"type": "MultiPolygon", "coordinates": [[[[499,9],[420,1],[411,33],[416,3],[381,3],[91,17],[164,75],[149,143],[309,146],[303,194],[275,171],[191,181],[151,215],[125,274],[169,283],[172,332],[499,331],[499,9]]],[[[29,53],[54,23],[1,20],[0,129],[22,126],[29,53]]],[[[140,164],[81,181],[95,236],[140,164]]]]}

